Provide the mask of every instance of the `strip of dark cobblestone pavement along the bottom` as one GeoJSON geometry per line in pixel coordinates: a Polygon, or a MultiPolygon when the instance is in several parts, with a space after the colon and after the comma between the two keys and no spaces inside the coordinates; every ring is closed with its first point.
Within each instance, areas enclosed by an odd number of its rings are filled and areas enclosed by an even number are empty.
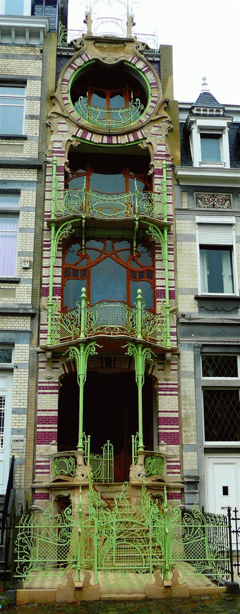
{"type": "Polygon", "coordinates": [[[188,597],[154,601],[98,601],[78,604],[25,605],[9,614],[239,614],[240,595],[188,597]]]}

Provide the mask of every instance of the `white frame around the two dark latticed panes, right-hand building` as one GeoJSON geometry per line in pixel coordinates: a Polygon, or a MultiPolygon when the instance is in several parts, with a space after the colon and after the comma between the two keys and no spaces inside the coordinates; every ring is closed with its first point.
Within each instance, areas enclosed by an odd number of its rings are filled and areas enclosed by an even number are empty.
{"type": "MultiPolygon", "coordinates": [[[[240,391],[240,354],[237,354],[237,360],[238,360],[238,377],[236,378],[228,378],[228,377],[221,377],[221,378],[210,378],[210,377],[203,377],[203,362],[202,362],[202,357],[203,356],[207,356],[210,355],[212,356],[213,354],[215,354],[216,356],[223,356],[223,352],[214,352],[214,349],[212,352],[204,352],[201,355],[201,388],[202,388],[202,417],[203,417],[203,433],[204,433],[204,448],[212,448],[214,446],[214,448],[234,448],[236,446],[239,446],[239,441],[206,441],[205,440],[205,425],[204,425],[204,400],[203,400],[203,392],[204,390],[211,390],[211,389],[218,389],[218,390],[226,390],[226,389],[230,389],[230,390],[238,390],[240,391]]],[[[228,353],[224,352],[224,356],[228,356],[228,353]]],[[[229,352],[229,356],[236,356],[236,354],[231,354],[231,352],[229,352]]]]}

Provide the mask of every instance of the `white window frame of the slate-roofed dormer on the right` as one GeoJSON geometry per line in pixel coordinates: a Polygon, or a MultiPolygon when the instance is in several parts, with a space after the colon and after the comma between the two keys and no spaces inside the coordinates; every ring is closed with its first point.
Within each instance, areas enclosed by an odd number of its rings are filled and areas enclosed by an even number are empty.
{"type": "Polygon", "coordinates": [[[218,117],[193,117],[190,123],[190,149],[193,166],[201,168],[230,168],[228,130],[231,121],[228,118],[218,117]],[[219,134],[221,157],[220,162],[201,160],[201,134],[219,134]]]}

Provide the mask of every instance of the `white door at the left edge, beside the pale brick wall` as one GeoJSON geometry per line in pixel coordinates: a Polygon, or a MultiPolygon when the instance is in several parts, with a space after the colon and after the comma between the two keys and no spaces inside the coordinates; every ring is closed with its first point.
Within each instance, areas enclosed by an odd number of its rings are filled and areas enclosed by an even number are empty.
{"type": "Polygon", "coordinates": [[[12,413],[12,373],[0,371],[0,494],[5,494],[9,476],[12,413]]]}

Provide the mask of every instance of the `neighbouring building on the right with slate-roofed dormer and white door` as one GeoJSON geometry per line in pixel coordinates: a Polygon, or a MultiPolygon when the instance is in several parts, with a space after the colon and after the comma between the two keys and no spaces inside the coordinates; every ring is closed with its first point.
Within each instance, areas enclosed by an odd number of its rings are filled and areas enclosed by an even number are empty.
{"type": "MultiPolygon", "coordinates": [[[[204,79],[206,79],[204,77],[204,79]]],[[[239,509],[240,107],[180,103],[175,169],[185,503],[239,509]]]]}

